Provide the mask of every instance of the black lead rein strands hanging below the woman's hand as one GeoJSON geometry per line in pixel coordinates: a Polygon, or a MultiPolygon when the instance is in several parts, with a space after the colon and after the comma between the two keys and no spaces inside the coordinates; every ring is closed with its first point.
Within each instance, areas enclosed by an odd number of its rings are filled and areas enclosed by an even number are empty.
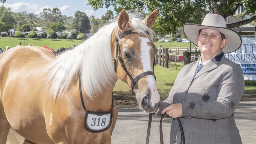
{"type": "MultiPolygon", "coordinates": [[[[163,117],[164,117],[165,115],[166,115],[166,113],[162,114],[161,119],[160,119],[160,126],[159,126],[159,131],[160,131],[160,144],[163,144],[163,128],[162,128],[162,122],[163,122],[163,117]]],[[[180,134],[181,134],[180,144],[185,144],[185,134],[184,134],[184,130],[183,130],[182,124],[181,124],[179,118],[176,118],[176,120],[178,120],[179,127],[180,127],[180,134]]],[[[152,122],[152,113],[149,114],[149,118],[148,118],[148,130],[147,130],[146,144],[148,144],[148,142],[149,142],[149,135],[150,135],[151,122],[152,122]]]]}

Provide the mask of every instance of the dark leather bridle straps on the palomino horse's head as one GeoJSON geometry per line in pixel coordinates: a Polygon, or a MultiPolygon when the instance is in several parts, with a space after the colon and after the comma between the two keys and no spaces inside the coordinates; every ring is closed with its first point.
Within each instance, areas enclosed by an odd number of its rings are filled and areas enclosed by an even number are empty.
{"type": "MultiPolygon", "coordinates": [[[[114,63],[115,72],[117,72],[117,59],[118,59],[119,63],[122,66],[122,69],[126,72],[127,76],[130,78],[130,81],[131,81],[130,93],[134,94],[133,93],[134,85],[136,84],[136,82],[139,79],[141,79],[141,78],[143,78],[144,76],[147,76],[147,75],[153,75],[154,78],[156,79],[156,76],[155,76],[154,72],[147,71],[147,72],[143,72],[142,74],[139,74],[139,76],[137,76],[136,78],[133,79],[131,74],[126,69],[126,66],[124,65],[124,60],[122,59],[122,55],[121,55],[121,48],[120,48],[120,45],[119,45],[119,38],[122,38],[125,35],[131,34],[131,33],[136,33],[136,32],[134,30],[127,30],[127,31],[124,31],[124,32],[120,33],[118,35],[118,37],[115,38],[117,46],[116,46],[116,51],[115,51],[115,57],[113,57],[113,63],[114,63]]],[[[153,64],[153,70],[154,70],[154,65],[155,65],[155,59],[154,59],[154,64],[153,64]]]]}

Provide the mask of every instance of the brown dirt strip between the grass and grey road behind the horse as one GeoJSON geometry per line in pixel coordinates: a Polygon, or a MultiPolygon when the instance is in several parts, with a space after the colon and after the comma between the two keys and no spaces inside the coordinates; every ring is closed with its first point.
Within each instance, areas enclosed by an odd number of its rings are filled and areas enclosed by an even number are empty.
{"type": "MultiPolygon", "coordinates": [[[[137,107],[137,100],[132,94],[123,94],[121,96],[114,95],[114,97],[118,108],[137,107]]],[[[243,94],[241,101],[256,101],[256,94],[243,94]]]]}

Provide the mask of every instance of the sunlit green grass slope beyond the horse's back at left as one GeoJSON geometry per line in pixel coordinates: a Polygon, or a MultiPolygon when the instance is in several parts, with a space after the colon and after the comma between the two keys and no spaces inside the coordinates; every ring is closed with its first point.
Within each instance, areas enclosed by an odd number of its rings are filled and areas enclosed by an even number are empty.
{"type": "Polygon", "coordinates": [[[22,43],[22,46],[28,46],[29,43],[32,43],[33,46],[43,47],[44,45],[57,50],[60,47],[72,47],[73,45],[78,45],[83,43],[82,40],[74,39],[33,39],[33,38],[14,38],[14,37],[1,37],[0,38],[0,47],[3,50],[6,50],[6,46],[10,48],[15,47],[22,43]]]}

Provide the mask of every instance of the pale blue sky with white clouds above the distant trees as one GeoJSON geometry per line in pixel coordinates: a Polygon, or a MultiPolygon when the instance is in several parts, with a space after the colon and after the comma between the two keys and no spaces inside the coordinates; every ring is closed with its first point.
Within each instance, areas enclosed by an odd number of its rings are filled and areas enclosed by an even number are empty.
{"type": "MultiPolygon", "coordinates": [[[[10,7],[13,12],[27,11],[39,15],[43,8],[58,7],[61,15],[73,16],[76,11],[83,11],[87,16],[94,15],[100,18],[108,9],[100,8],[96,11],[88,4],[88,0],[6,0],[5,7],[10,7]]],[[[2,4],[1,4],[2,5],[2,4]]],[[[113,11],[113,7],[110,7],[113,11]]]]}

